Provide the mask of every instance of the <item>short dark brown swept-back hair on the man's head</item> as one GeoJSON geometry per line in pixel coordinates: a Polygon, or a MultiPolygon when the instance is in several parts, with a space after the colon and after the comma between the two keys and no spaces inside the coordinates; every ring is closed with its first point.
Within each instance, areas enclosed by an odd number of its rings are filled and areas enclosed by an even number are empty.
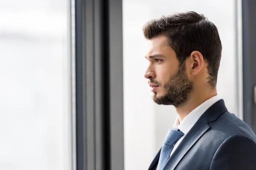
{"type": "Polygon", "coordinates": [[[181,65],[193,51],[200,51],[208,64],[208,83],[217,83],[221,60],[221,40],[217,27],[203,14],[194,11],[175,13],[151,20],[143,26],[146,39],[166,35],[181,65]]]}

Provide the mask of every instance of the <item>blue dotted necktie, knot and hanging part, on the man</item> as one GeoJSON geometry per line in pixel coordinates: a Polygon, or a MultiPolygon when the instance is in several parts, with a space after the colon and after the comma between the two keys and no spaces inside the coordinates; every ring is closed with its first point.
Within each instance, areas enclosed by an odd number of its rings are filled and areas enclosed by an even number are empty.
{"type": "Polygon", "coordinates": [[[178,131],[178,128],[168,130],[166,139],[164,140],[163,147],[161,149],[157,170],[163,170],[163,167],[171,155],[173,145],[183,136],[183,134],[183,132],[178,131]]]}

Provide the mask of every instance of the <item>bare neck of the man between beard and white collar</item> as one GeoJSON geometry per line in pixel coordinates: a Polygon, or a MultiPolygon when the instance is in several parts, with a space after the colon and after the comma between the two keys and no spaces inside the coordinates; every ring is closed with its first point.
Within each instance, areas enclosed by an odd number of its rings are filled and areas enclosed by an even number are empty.
{"type": "Polygon", "coordinates": [[[200,90],[200,91],[193,91],[190,95],[190,98],[188,102],[186,102],[185,105],[180,106],[179,108],[176,108],[176,111],[178,113],[178,119],[181,123],[183,119],[195,108],[197,108],[199,105],[207,101],[208,99],[212,98],[213,96],[217,95],[217,90],[215,89],[206,89],[206,90],[200,90]]]}

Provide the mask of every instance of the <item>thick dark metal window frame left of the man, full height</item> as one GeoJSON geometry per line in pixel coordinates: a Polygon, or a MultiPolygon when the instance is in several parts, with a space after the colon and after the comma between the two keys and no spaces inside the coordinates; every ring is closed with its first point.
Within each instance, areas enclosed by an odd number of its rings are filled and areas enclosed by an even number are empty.
{"type": "Polygon", "coordinates": [[[76,0],[77,170],[123,170],[122,0],[76,0]]]}

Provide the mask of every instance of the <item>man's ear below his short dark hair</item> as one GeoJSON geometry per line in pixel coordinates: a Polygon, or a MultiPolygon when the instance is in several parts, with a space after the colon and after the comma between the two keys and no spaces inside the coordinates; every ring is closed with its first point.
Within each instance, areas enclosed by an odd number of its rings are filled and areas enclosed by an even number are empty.
{"type": "Polygon", "coordinates": [[[190,54],[190,57],[192,59],[192,69],[191,74],[193,76],[197,75],[199,71],[201,71],[203,65],[204,65],[204,57],[199,51],[193,51],[190,54]]]}

